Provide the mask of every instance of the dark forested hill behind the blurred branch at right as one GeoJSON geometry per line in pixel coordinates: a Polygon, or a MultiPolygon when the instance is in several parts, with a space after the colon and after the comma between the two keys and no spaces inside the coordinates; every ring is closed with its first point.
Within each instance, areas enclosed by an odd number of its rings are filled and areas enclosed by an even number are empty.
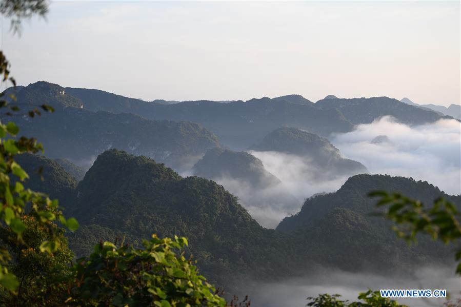
{"type": "MultiPolygon", "coordinates": [[[[452,251],[442,243],[421,235],[418,243],[409,247],[396,238],[390,221],[373,216],[380,210],[376,208],[376,199],[367,194],[376,190],[401,192],[429,206],[438,197],[452,200],[458,207],[461,204],[460,196],[449,196],[427,182],[362,174],[349,178],[334,193],[307,199],[303,208],[286,217],[276,230],[309,242],[310,259],[314,262],[346,271],[379,271],[378,263],[386,263],[389,270],[417,269],[423,263],[433,265],[438,261],[452,263],[452,251]]],[[[382,274],[388,274],[385,271],[382,274]]]]}

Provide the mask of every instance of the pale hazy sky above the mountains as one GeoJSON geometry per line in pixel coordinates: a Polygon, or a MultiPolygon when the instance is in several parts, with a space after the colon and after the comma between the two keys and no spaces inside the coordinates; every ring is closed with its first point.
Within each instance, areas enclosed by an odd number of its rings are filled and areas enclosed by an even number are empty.
{"type": "Polygon", "coordinates": [[[52,2],[1,48],[21,85],[233,100],[460,103],[460,2],[52,2]]]}

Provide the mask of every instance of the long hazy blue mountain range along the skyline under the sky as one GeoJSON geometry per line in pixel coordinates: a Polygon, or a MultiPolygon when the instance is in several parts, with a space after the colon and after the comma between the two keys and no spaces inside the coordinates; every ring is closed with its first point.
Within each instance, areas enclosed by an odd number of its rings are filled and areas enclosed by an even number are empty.
{"type": "MultiPolygon", "coordinates": [[[[12,92],[12,89],[7,91],[12,92]]],[[[48,103],[57,109],[73,107],[96,114],[106,111],[131,113],[148,120],[192,121],[215,134],[223,145],[233,150],[245,150],[280,127],[298,128],[328,137],[331,133],[351,131],[354,125],[366,124],[385,115],[409,125],[443,117],[388,97],[340,99],[329,95],[327,99],[312,103],[300,95],[286,95],[247,101],[168,103],[165,100],[143,101],[100,90],[63,88],[45,81],[17,87],[16,96],[17,103],[22,105],[48,103]]]]}

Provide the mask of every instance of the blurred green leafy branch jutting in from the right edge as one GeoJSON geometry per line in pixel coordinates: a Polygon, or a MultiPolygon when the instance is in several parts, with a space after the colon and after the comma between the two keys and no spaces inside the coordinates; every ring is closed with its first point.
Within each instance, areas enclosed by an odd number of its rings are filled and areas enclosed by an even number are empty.
{"type": "MultiPolygon", "coordinates": [[[[377,206],[389,206],[384,215],[395,223],[392,229],[398,237],[411,242],[416,240],[418,233],[426,233],[445,244],[459,243],[460,213],[454,203],[437,198],[432,207],[425,207],[423,202],[400,193],[376,191],[370,196],[380,198],[377,206]]],[[[461,249],[456,251],[455,258],[458,261],[461,259],[461,249]]],[[[457,265],[456,273],[461,274],[461,262],[457,265]]]]}

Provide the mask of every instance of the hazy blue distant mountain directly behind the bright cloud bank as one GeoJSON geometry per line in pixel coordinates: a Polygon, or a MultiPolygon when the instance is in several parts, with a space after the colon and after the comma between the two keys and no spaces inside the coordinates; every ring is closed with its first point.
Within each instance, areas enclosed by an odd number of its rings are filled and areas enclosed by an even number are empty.
{"type": "Polygon", "coordinates": [[[317,101],[315,106],[324,110],[337,109],[354,125],[370,124],[385,115],[393,116],[407,125],[425,124],[443,118],[434,111],[416,108],[388,97],[330,98],[317,101]]]}

